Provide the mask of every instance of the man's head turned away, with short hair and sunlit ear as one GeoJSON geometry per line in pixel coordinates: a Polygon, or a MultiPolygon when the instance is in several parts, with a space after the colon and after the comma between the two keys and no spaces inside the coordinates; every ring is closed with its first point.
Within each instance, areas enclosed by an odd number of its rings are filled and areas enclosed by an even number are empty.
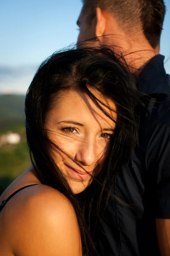
{"type": "MultiPolygon", "coordinates": [[[[165,15],[163,0],[83,0],[77,25],[78,41],[101,35],[117,35],[130,41],[147,41],[159,48],[165,15]]],[[[109,36],[100,37],[108,44],[109,36]]],[[[117,41],[116,41],[117,42],[117,41]]],[[[115,44],[114,40],[112,41],[115,44]]],[[[111,44],[111,42],[109,42],[111,44]]]]}

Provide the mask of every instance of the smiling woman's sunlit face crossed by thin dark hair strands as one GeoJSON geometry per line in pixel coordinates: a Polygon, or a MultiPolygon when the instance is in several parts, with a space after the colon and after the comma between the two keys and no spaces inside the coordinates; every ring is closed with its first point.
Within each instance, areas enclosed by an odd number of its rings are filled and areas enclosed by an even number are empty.
{"type": "MultiPolygon", "coordinates": [[[[116,111],[111,100],[99,93],[94,95],[116,111]]],[[[114,111],[103,105],[102,108],[116,121],[114,111]]],[[[102,113],[86,94],[77,90],[61,93],[54,108],[47,113],[46,129],[50,140],[69,156],[54,149],[54,161],[74,193],[85,190],[92,181],[91,175],[99,172],[114,128],[115,122],[102,113]]]]}

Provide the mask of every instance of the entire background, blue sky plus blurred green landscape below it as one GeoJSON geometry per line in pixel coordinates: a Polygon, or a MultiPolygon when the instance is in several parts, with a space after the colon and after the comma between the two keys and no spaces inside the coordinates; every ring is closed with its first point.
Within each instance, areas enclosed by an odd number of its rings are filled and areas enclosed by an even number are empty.
{"type": "MultiPolygon", "coordinates": [[[[170,1],[161,54],[170,73],[170,1]]],[[[81,0],[0,1],[0,194],[30,165],[24,127],[26,90],[40,63],[77,41],[81,0]]]]}

